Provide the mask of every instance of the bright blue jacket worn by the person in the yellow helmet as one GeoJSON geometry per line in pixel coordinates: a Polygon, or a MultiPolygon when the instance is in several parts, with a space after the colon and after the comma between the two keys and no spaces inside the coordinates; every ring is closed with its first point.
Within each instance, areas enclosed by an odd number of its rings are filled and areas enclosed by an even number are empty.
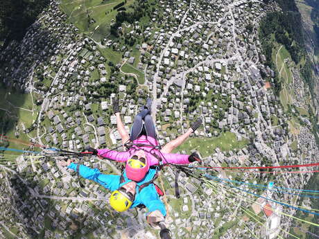
{"type": "MultiPolygon", "coordinates": [[[[71,168],[76,171],[76,166],[77,166],[76,163],[71,163],[68,168],[71,168]]],[[[120,184],[121,176],[119,175],[103,175],[97,168],[89,168],[84,165],[80,165],[79,168],[80,168],[79,169],[80,176],[84,177],[85,179],[93,180],[94,182],[101,184],[103,187],[110,189],[110,191],[115,191],[119,189],[121,186],[123,186],[124,184],[127,184],[128,182],[132,181],[128,179],[128,177],[126,177],[125,170],[123,173],[125,182],[120,184]]],[[[139,192],[139,186],[141,186],[141,184],[149,182],[151,179],[153,179],[155,174],[156,174],[156,170],[150,168],[150,170],[148,170],[148,173],[146,174],[144,179],[141,182],[137,183],[135,200],[131,208],[134,208],[135,206],[138,206],[139,204],[144,204],[146,208],[148,209],[148,213],[159,210],[165,216],[166,215],[165,206],[163,202],[160,200],[160,196],[157,194],[154,184],[149,184],[145,188],[142,188],[141,191],[139,192]]]]}

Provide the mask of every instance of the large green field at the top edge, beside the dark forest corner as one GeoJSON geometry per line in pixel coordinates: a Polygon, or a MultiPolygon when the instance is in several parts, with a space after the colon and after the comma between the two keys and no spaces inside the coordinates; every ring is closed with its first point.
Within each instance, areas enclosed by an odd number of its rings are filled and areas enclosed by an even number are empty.
{"type": "MultiPolygon", "coordinates": [[[[60,8],[81,32],[100,42],[110,34],[110,23],[117,16],[117,10],[113,8],[121,2],[123,0],[62,0],[60,8]]],[[[124,7],[132,3],[134,0],[128,0],[124,7]]]]}

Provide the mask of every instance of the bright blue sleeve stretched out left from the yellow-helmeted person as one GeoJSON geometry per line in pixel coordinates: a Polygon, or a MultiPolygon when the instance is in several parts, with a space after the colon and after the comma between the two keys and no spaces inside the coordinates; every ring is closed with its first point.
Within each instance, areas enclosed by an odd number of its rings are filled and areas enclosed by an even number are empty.
{"type": "Polygon", "coordinates": [[[84,165],[78,167],[78,163],[70,163],[68,168],[71,168],[76,172],[78,170],[81,177],[93,180],[111,191],[119,188],[119,175],[103,175],[97,168],[89,168],[84,165]]]}

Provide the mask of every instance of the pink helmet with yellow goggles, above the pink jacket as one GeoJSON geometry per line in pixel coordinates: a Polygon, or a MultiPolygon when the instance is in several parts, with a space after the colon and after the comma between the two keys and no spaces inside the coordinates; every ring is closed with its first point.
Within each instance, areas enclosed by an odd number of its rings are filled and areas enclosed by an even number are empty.
{"type": "Polygon", "coordinates": [[[134,155],[132,158],[126,161],[126,176],[135,182],[144,179],[146,173],[150,169],[150,165],[147,159],[138,158],[134,155]]]}

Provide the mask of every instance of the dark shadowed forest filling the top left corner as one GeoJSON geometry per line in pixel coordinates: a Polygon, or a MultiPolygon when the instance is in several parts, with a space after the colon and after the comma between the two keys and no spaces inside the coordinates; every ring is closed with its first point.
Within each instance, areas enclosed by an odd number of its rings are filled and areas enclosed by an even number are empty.
{"type": "Polygon", "coordinates": [[[5,48],[13,39],[22,39],[48,4],[49,0],[1,0],[0,48],[5,48]]]}

